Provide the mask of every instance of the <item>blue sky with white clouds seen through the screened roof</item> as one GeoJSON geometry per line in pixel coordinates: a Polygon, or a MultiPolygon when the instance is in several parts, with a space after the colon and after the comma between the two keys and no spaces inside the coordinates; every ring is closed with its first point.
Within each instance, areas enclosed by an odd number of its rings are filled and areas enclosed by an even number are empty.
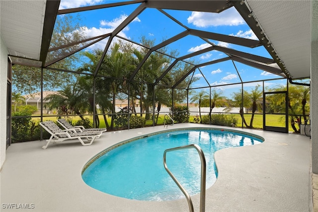
{"type": "MultiPolygon", "coordinates": [[[[73,8],[80,6],[88,6],[103,3],[112,3],[115,0],[61,0],[60,9],[73,8]]],[[[112,32],[132,11],[134,11],[139,4],[125,5],[119,7],[111,7],[105,9],[91,10],[79,12],[84,25],[84,32],[87,37],[94,37],[101,34],[112,32]]],[[[195,12],[195,11],[181,11],[181,10],[164,10],[169,15],[179,20],[183,25],[197,30],[210,31],[220,34],[244,37],[257,40],[257,37],[245,23],[243,18],[239,15],[234,7],[225,10],[219,14],[208,12],[195,12]]],[[[73,14],[73,16],[75,16],[73,14]]],[[[63,15],[60,17],[63,18],[63,15]]],[[[158,9],[147,8],[139,16],[135,18],[124,30],[119,32],[118,35],[129,38],[133,41],[140,42],[140,37],[145,36],[148,39],[156,39],[155,44],[160,43],[162,40],[168,39],[182,31],[185,28],[172,21],[170,18],[161,13],[158,9]]],[[[233,48],[239,51],[260,55],[270,58],[270,55],[263,47],[247,48],[238,45],[224,43],[219,41],[210,40],[212,43],[233,48]]],[[[96,43],[86,50],[93,48],[104,49],[107,40],[96,43]]],[[[171,43],[167,47],[169,49],[177,49],[179,56],[189,54],[195,50],[209,47],[210,44],[195,36],[188,35],[179,41],[171,43]]],[[[222,52],[211,51],[205,54],[196,56],[195,61],[204,63],[211,59],[220,59],[227,57],[222,52]]],[[[243,82],[257,81],[262,79],[275,79],[279,76],[258,70],[238,62],[235,62],[236,68],[243,82]]],[[[205,87],[208,86],[207,82],[202,77],[206,77],[210,85],[226,85],[231,83],[239,83],[239,75],[232,61],[226,61],[215,65],[201,67],[201,72],[197,69],[195,76],[200,80],[195,82],[192,87],[205,87]]],[[[282,81],[286,84],[286,80],[282,81]]],[[[254,88],[258,83],[250,83],[247,87],[254,88]]],[[[265,86],[270,86],[270,83],[265,83],[265,86]]],[[[227,86],[231,87],[231,91],[238,91],[241,85],[227,86]]],[[[217,87],[217,89],[223,89],[217,87]]]]}

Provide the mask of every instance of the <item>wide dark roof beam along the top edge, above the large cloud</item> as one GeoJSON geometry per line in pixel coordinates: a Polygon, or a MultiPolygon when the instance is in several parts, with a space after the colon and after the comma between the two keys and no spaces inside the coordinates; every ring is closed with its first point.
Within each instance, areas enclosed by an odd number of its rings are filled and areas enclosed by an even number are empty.
{"type": "Polygon", "coordinates": [[[147,7],[219,13],[233,6],[228,0],[149,0],[147,7]]]}

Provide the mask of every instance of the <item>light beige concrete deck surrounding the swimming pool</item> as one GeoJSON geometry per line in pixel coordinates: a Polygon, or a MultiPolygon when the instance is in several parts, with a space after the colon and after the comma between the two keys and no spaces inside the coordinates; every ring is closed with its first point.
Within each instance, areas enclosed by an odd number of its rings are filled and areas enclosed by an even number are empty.
{"type": "MultiPolygon", "coordinates": [[[[186,127],[229,128],[182,123],[186,127]]],[[[261,144],[215,153],[216,183],[206,191],[206,211],[312,211],[311,140],[305,135],[235,128],[265,138],[261,144]]],[[[41,147],[45,141],[11,144],[0,172],[0,211],[32,212],[185,212],[186,199],[135,201],[111,196],[81,179],[85,163],[120,141],[165,131],[163,126],[105,132],[90,146],[65,141],[41,147]],[[14,205],[15,204],[15,205],[14,205]],[[19,205],[19,204],[24,204],[19,205]],[[8,209],[8,207],[16,209],[8,209]],[[29,209],[19,209],[27,207],[29,209]]],[[[163,154],[163,153],[162,153],[163,154]]],[[[199,164],[198,164],[199,165],[199,164]]],[[[200,195],[191,197],[199,211],[200,195]]]]}

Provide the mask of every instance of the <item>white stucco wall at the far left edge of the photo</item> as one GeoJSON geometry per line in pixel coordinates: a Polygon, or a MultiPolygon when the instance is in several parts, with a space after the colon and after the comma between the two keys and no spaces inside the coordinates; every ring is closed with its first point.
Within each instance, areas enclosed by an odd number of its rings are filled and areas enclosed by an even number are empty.
{"type": "Polygon", "coordinates": [[[0,168],[5,160],[7,48],[0,35],[0,168]]]}

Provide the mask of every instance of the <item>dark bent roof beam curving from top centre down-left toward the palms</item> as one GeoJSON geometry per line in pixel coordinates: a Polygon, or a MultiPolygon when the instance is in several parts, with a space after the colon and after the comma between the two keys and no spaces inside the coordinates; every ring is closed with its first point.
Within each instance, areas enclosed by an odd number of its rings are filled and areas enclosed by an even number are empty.
{"type": "Polygon", "coordinates": [[[103,51],[103,54],[101,55],[100,60],[98,61],[98,64],[96,66],[95,72],[94,72],[94,76],[97,75],[98,70],[101,66],[102,61],[104,60],[107,50],[110,46],[111,41],[113,40],[113,38],[121,31],[123,30],[131,21],[133,21],[142,11],[144,11],[145,9],[145,3],[142,3],[141,5],[139,5],[123,22],[121,22],[119,24],[119,26],[117,26],[116,29],[113,30],[111,36],[108,39],[108,42],[105,46],[105,49],[103,51]]]}

